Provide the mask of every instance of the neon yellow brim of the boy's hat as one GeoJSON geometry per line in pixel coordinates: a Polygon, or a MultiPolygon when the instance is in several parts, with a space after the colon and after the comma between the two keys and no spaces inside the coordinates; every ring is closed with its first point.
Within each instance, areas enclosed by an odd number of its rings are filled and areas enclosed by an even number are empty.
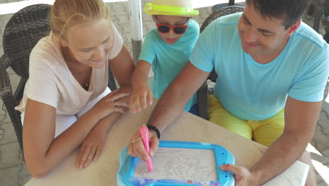
{"type": "Polygon", "coordinates": [[[167,16],[198,16],[199,11],[193,8],[184,8],[178,6],[165,6],[152,3],[146,3],[144,11],[150,15],[167,15],[167,16]]]}

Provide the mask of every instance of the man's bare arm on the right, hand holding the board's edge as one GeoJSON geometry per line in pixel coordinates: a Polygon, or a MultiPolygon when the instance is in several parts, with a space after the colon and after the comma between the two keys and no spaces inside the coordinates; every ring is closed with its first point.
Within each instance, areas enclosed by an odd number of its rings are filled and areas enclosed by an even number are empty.
{"type": "Polygon", "coordinates": [[[262,185],[283,173],[305,151],[314,133],[322,102],[305,102],[288,97],[285,104],[285,129],[252,168],[250,173],[239,166],[223,166],[235,173],[240,185],[262,185]]]}

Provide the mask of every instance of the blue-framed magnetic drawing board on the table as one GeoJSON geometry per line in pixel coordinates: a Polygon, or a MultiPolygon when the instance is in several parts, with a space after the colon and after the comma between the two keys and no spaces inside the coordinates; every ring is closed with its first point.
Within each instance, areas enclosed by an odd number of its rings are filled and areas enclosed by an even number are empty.
{"type": "Polygon", "coordinates": [[[121,158],[118,176],[123,182],[118,185],[234,185],[233,175],[219,168],[223,163],[234,164],[234,157],[215,144],[160,141],[151,172],[138,158],[127,155],[122,163],[121,158]]]}

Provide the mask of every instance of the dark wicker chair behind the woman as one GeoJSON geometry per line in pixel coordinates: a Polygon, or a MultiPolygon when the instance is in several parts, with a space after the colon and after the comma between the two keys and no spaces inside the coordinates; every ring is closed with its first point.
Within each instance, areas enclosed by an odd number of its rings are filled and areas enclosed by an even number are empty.
{"type": "MultiPolygon", "coordinates": [[[[4,56],[0,58],[0,96],[13,123],[21,150],[22,123],[20,112],[14,108],[22,99],[25,83],[29,78],[30,52],[39,39],[49,35],[50,9],[51,5],[48,4],[34,4],[22,8],[11,17],[4,30],[4,56]],[[14,94],[7,72],[8,67],[20,77],[14,94]]],[[[108,87],[111,90],[117,89],[112,72],[109,72],[108,87]]]]}

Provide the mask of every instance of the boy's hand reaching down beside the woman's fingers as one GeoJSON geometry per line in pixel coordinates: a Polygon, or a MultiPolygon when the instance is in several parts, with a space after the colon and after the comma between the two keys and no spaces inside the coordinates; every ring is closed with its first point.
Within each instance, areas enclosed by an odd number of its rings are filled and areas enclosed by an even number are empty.
{"type": "Polygon", "coordinates": [[[142,109],[146,109],[147,104],[153,104],[153,94],[147,85],[138,85],[134,88],[131,95],[129,108],[131,113],[140,112],[142,109]]]}

